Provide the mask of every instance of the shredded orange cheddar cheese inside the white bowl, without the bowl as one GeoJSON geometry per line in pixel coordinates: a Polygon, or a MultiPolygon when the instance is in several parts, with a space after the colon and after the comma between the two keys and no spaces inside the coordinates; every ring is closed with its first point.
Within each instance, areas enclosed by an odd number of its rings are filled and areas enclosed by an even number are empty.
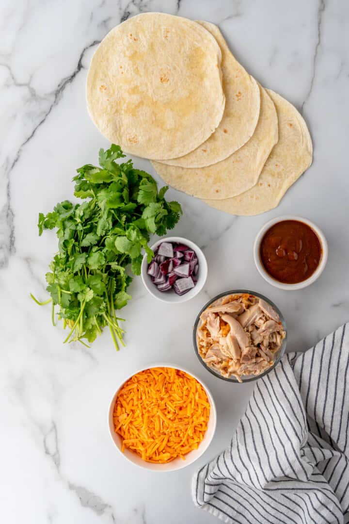
{"type": "Polygon", "coordinates": [[[179,369],[155,367],[133,375],[120,389],[113,420],[127,447],[144,461],[164,464],[197,449],[210,414],[206,391],[179,369]]]}

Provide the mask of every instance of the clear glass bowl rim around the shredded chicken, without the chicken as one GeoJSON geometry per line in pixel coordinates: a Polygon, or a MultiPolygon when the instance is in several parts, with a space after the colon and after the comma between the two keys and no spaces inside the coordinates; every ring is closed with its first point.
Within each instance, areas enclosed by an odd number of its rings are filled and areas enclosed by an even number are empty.
{"type": "Polygon", "coordinates": [[[198,328],[198,324],[199,324],[199,321],[200,321],[200,315],[201,313],[203,313],[205,311],[205,309],[207,309],[209,307],[209,305],[212,303],[212,302],[215,302],[215,300],[218,300],[219,298],[221,297],[225,297],[229,294],[243,294],[243,293],[249,293],[255,297],[258,297],[258,298],[261,298],[263,300],[265,300],[266,302],[268,302],[274,309],[275,311],[277,312],[277,314],[279,315],[280,317],[280,321],[281,323],[283,324],[283,328],[285,330],[285,338],[283,340],[283,344],[282,346],[280,347],[279,349],[279,354],[277,356],[277,358],[275,359],[274,361],[274,364],[270,367],[268,367],[263,373],[261,373],[260,375],[247,375],[247,378],[242,378],[242,383],[244,384],[245,382],[253,382],[254,380],[257,380],[258,378],[262,378],[264,377],[265,375],[267,375],[269,372],[272,371],[272,369],[274,369],[277,364],[280,362],[280,360],[282,359],[282,357],[284,356],[285,354],[285,350],[286,350],[286,343],[287,343],[287,325],[286,325],[286,321],[285,321],[285,318],[284,318],[284,315],[282,314],[282,312],[279,310],[279,308],[277,307],[276,304],[274,304],[274,302],[269,299],[268,297],[266,297],[265,295],[263,295],[262,293],[257,293],[256,291],[250,291],[248,289],[233,289],[233,290],[230,290],[230,291],[224,291],[223,293],[219,293],[218,295],[216,295],[215,297],[213,297],[212,299],[210,299],[205,305],[204,307],[201,308],[200,312],[198,313],[197,317],[196,317],[196,320],[195,320],[195,324],[194,324],[194,328],[193,328],[193,344],[194,344],[194,350],[195,350],[195,353],[196,353],[196,356],[198,357],[200,363],[202,366],[205,367],[205,369],[207,369],[207,371],[209,373],[211,373],[212,375],[214,375],[215,377],[217,378],[220,378],[221,380],[226,380],[227,382],[232,382],[232,383],[238,383],[238,384],[241,384],[239,383],[239,380],[237,378],[235,378],[234,376],[231,377],[231,378],[228,378],[228,377],[222,377],[222,375],[219,375],[218,373],[216,373],[215,371],[213,371],[213,369],[211,369],[209,366],[207,366],[207,364],[202,360],[201,356],[199,355],[199,350],[198,350],[198,346],[197,346],[197,342],[196,342],[196,332],[197,332],[197,328],[198,328]]]}

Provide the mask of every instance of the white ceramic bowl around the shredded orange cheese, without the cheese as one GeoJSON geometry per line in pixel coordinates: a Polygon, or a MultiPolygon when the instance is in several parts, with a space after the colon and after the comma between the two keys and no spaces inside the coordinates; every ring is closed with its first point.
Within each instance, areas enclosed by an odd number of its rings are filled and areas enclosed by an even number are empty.
{"type": "Polygon", "coordinates": [[[187,369],[181,366],[177,366],[175,364],[168,364],[165,362],[151,364],[149,366],[142,367],[141,369],[137,369],[129,377],[123,380],[122,384],[120,384],[117,391],[115,392],[115,395],[111,399],[110,406],[109,406],[109,413],[108,413],[108,425],[109,425],[109,433],[111,436],[111,440],[114,442],[114,444],[116,445],[121,455],[125,457],[126,460],[128,460],[129,462],[132,462],[133,464],[136,464],[137,466],[143,467],[146,470],[152,470],[152,471],[161,472],[161,473],[166,472],[166,471],[181,470],[183,467],[188,466],[189,464],[193,464],[193,462],[195,462],[207,450],[208,446],[210,445],[213,435],[215,434],[215,431],[216,431],[216,424],[217,424],[216,405],[215,405],[215,401],[212,398],[211,392],[209,391],[207,386],[202,382],[202,380],[200,380],[191,371],[188,371],[187,369]],[[118,433],[115,433],[114,421],[112,420],[112,414],[114,411],[116,397],[121,387],[123,386],[123,384],[125,384],[125,382],[127,382],[127,380],[133,377],[133,375],[136,375],[136,373],[139,373],[140,371],[143,371],[144,369],[149,369],[152,367],[173,367],[175,369],[184,371],[185,373],[188,373],[188,375],[191,375],[192,377],[196,378],[196,380],[201,384],[201,386],[206,391],[206,394],[207,394],[207,397],[210,403],[210,418],[208,421],[208,427],[207,427],[204,439],[202,439],[201,443],[199,444],[198,449],[187,453],[185,455],[185,460],[179,457],[178,459],[175,459],[172,462],[168,462],[167,464],[153,464],[151,462],[143,461],[139,455],[137,455],[136,453],[133,453],[132,451],[128,449],[125,449],[124,452],[121,451],[121,446],[122,446],[121,437],[120,435],[118,435],[118,433]]]}

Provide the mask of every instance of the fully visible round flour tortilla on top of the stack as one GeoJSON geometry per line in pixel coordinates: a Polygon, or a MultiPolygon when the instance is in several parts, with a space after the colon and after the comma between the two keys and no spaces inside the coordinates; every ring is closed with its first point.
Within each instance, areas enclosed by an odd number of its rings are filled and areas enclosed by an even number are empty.
{"type": "Polygon", "coordinates": [[[126,152],[166,159],[187,154],[219,125],[225,98],[221,51],[202,26],[144,13],[112,29],[89,67],[89,114],[126,152]]]}

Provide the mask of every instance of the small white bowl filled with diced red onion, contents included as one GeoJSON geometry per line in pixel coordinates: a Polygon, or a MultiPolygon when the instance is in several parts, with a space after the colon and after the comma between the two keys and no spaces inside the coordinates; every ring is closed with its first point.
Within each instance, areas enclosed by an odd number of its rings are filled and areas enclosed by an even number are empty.
{"type": "Polygon", "coordinates": [[[154,258],[144,255],[141,276],[153,297],[173,304],[186,302],[204,287],[207,261],[199,246],[187,238],[161,238],[151,246],[154,258]]]}

